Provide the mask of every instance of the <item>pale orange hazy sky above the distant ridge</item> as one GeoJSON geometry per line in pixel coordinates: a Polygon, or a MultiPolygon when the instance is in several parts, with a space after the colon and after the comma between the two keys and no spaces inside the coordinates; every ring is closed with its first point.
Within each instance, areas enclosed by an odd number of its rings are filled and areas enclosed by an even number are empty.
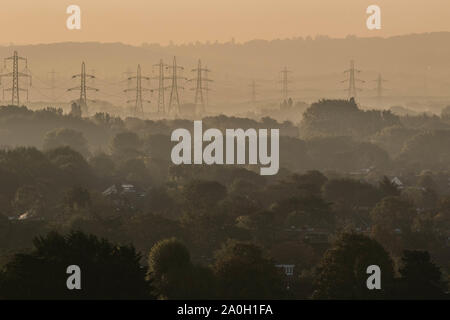
{"type": "Polygon", "coordinates": [[[450,0],[1,0],[0,43],[129,44],[276,39],[318,34],[391,36],[450,31],[450,0]],[[66,29],[67,6],[82,29],[66,29]],[[366,28],[377,4],[382,29],[366,28]]]}

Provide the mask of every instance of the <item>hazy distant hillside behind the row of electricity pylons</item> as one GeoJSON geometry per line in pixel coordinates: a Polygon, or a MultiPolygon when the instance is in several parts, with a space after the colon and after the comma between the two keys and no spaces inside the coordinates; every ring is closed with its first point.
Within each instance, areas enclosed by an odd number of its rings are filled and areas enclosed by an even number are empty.
{"type": "MultiPolygon", "coordinates": [[[[361,97],[376,95],[374,90],[378,73],[389,82],[385,86],[388,96],[450,96],[450,33],[412,34],[390,38],[331,39],[328,37],[295,38],[286,40],[254,40],[245,44],[212,43],[180,46],[144,45],[134,47],[121,43],[58,43],[30,46],[0,47],[0,57],[10,56],[18,50],[29,61],[35,75],[35,99],[49,96],[49,72],[57,74],[56,93],[66,99],[64,89],[77,83],[70,75],[79,73],[81,61],[86,62],[89,72],[98,76],[95,86],[103,89],[99,99],[119,102],[126,87],[124,72],[135,72],[138,63],[144,74],[156,76],[153,64],[164,59],[185,67],[184,76],[197,66],[199,58],[211,70],[214,80],[210,93],[211,104],[226,105],[249,101],[249,84],[256,80],[259,85],[257,99],[279,102],[279,71],[287,66],[290,74],[290,95],[297,100],[312,101],[318,97],[345,97],[343,71],[349,61],[355,60],[362,72],[359,77],[366,81],[361,97]],[[120,82],[122,81],[122,82],[120,82]]],[[[167,80],[168,81],[168,80],[167,80]]],[[[169,81],[167,82],[169,84],[169,81]]],[[[194,83],[186,83],[186,89],[194,83]]],[[[145,86],[149,86],[145,83],[145,86]]],[[[156,87],[156,82],[150,84],[156,87]]],[[[182,99],[190,102],[193,92],[181,92],[182,99]]],[[[76,96],[76,94],[75,94],[76,96]]],[[[74,94],[71,95],[74,97],[74,94]]],[[[152,100],[155,99],[155,96],[152,100]]],[[[124,99],[122,99],[124,100],[124,99]]],[[[396,101],[397,102],[397,101],[396,101]]],[[[394,101],[392,102],[394,103],[394,101]]]]}

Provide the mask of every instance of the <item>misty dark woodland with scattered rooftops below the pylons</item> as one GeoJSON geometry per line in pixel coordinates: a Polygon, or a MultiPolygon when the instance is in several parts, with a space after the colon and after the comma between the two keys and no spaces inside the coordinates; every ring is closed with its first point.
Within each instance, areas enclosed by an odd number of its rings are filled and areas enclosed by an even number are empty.
{"type": "Polygon", "coordinates": [[[1,107],[0,297],[446,297],[445,114],[322,100],[298,124],[203,126],[280,128],[278,175],[173,165],[171,132],[190,120],[1,107]],[[77,263],[81,293],[65,287],[77,263]],[[366,288],[372,264],[382,290],[366,288]]]}

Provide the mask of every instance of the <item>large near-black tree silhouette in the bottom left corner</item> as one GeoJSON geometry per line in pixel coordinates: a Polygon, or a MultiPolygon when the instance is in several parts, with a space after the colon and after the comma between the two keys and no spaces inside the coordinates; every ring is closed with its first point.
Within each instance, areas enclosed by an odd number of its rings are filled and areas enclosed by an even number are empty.
{"type": "Polygon", "coordinates": [[[148,299],[146,269],[132,246],[118,246],[82,232],[51,232],[16,254],[0,276],[5,299],[148,299]],[[81,269],[81,290],[68,290],[67,267],[81,269]]]}

